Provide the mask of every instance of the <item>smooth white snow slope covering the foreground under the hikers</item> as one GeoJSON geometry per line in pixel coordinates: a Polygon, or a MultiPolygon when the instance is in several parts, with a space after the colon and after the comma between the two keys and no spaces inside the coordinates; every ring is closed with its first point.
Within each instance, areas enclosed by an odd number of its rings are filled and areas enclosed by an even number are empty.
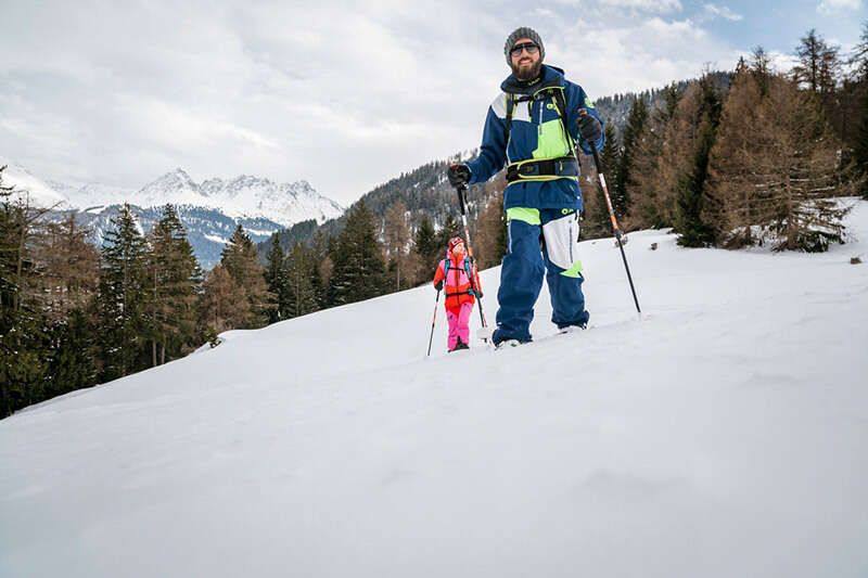
{"type": "Polygon", "coordinates": [[[426,286],[20,412],[0,576],[866,576],[868,203],[848,223],[824,255],[631,233],[641,319],[586,242],[591,329],[544,294],[514,349],[444,354],[439,310],[424,359],[426,286]]]}

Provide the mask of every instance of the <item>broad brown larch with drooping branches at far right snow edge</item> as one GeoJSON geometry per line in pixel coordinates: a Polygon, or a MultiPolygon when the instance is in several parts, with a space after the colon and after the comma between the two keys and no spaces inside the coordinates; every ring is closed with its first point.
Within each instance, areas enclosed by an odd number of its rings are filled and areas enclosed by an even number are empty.
{"type": "Polygon", "coordinates": [[[776,249],[801,251],[842,242],[846,210],[830,197],[851,185],[841,180],[838,150],[813,94],[757,63],[739,70],[711,155],[722,242],[738,247],[771,236],[776,249]]]}

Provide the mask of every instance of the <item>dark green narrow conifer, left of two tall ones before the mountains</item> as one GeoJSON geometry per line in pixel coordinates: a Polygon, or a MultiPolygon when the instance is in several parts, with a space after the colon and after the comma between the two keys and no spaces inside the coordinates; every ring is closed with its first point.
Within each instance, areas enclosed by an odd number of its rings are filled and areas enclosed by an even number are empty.
{"type": "Polygon", "coordinates": [[[139,224],[124,205],[105,233],[100,265],[102,381],[148,367],[145,342],[146,246],[139,224]]]}

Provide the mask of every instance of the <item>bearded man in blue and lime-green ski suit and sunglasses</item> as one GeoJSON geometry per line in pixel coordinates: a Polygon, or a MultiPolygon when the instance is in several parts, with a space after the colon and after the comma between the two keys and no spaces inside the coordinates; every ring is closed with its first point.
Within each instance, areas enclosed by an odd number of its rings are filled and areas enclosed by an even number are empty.
{"type": "Polygon", "coordinates": [[[551,321],[565,332],[586,327],[578,260],[578,162],[575,143],[602,147],[602,123],[590,99],[563,72],[542,64],[546,50],[532,28],[518,28],[503,47],[512,74],[488,108],[480,156],[449,167],[454,187],[487,181],[507,164],[508,247],[497,300],[497,347],[532,341],[534,304],[545,273],[551,321]],[[541,249],[540,249],[541,243],[541,249]]]}

